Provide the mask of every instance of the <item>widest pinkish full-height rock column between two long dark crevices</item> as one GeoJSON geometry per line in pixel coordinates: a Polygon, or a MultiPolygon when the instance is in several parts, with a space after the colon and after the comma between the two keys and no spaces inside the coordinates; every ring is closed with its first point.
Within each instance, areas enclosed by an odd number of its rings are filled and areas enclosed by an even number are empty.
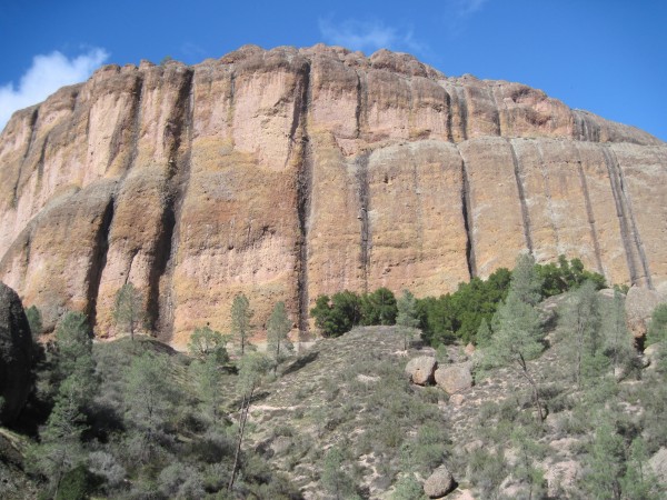
{"type": "Polygon", "coordinates": [[[307,62],[277,50],[196,69],[192,168],[172,279],[177,347],[207,323],[229,331],[237,293],[250,299],[258,332],[278,301],[299,321],[307,62]]]}

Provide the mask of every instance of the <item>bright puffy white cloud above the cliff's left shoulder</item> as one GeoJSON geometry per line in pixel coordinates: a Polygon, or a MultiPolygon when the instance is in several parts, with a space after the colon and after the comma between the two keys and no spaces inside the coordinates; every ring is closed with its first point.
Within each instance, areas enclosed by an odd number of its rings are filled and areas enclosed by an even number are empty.
{"type": "Polygon", "coordinates": [[[73,59],[58,51],[34,56],[17,88],[11,81],[0,86],[0,130],[16,110],[43,101],[63,86],[86,80],[108,57],[106,50],[97,48],[73,59]]]}

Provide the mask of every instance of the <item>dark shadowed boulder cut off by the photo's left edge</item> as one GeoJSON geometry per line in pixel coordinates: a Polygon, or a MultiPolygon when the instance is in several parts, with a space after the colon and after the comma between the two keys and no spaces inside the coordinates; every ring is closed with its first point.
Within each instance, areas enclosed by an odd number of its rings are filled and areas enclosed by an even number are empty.
{"type": "Polygon", "coordinates": [[[21,299],[0,282],[0,423],[12,422],[30,392],[32,338],[21,299]]]}

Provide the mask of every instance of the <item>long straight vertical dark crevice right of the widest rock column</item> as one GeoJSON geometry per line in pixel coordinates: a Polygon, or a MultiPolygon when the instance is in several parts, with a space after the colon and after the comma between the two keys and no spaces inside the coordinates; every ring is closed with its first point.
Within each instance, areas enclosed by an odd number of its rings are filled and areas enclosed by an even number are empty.
{"type": "Polygon", "coordinates": [[[308,333],[308,232],[310,229],[310,199],[312,196],[312,144],[308,134],[308,110],[310,109],[310,63],[297,86],[295,116],[301,128],[301,161],[297,172],[297,217],[299,223],[299,256],[297,277],[297,303],[299,307],[299,340],[308,333]],[[298,114],[297,114],[298,113],[298,114]]]}

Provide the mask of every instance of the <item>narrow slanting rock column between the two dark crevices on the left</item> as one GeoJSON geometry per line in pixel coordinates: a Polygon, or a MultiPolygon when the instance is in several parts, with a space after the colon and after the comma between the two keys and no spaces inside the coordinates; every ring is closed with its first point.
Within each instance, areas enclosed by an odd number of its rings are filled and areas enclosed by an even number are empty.
{"type": "Polygon", "coordinates": [[[160,293],[156,271],[166,269],[170,258],[173,210],[181,192],[173,184],[189,168],[179,150],[189,149],[183,138],[188,133],[191,70],[180,63],[143,63],[140,72],[142,88],[135,93],[138,116],[132,120],[135,142],[128,159],[131,164],[127,172],[120,172],[122,183],[99,284],[96,332],[100,336],[115,332],[113,299],[130,281],[143,297],[149,322],[158,324],[162,311],[156,306],[160,293]]]}

